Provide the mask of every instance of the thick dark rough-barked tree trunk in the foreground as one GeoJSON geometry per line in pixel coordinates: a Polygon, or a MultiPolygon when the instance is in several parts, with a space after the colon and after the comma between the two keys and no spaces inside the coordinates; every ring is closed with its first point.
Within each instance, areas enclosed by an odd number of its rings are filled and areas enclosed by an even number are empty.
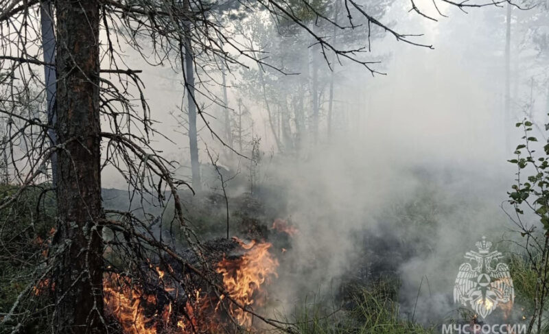
{"type": "Polygon", "coordinates": [[[56,1],[58,333],[104,333],[97,0],[56,1]]]}

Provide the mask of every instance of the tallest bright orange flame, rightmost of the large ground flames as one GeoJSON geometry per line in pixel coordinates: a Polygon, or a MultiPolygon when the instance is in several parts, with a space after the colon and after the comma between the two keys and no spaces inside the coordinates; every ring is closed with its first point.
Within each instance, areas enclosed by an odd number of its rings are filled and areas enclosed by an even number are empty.
{"type": "MultiPolygon", "coordinates": [[[[261,306],[261,299],[254,297],[261,294],[261,285],[266,283],[270,276],[277,275],[277,267],[279,261],[269,252],[272,244],[268,242],[244,243],[240,239],[236,239],[244,248],[248,250],[246,254],[238,259],[224,258],[218,263],[216,272],[222,274],[223,285],[229,296],[243,307],[251,305],[261,306]]],[[[229,305],[231,315],[237,320],[241,326],[250,327],[252,324],[252,316],[237,305],[231,303],[229,305]]]]}

